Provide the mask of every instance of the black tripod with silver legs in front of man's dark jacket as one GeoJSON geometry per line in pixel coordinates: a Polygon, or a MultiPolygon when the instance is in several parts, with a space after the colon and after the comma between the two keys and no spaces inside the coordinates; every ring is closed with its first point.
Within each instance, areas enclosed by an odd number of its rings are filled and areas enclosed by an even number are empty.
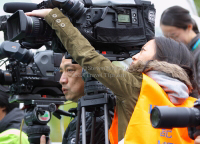
{"type": "MultiPolygon", "coordinates": [[[[98,51],[99,52],[99,51],[98,51]]],[[[110,61],[121,61],[129,57],[128,53],[120,53],[113,54],[113,52],[104,52],[104,56],[107,57],[110,61]]],[[[65,58],[71,58],[69,55],[65,55],[65,58]]],[[[72,59],[72,58],[71,58],[72,59]]],[[[72,60],[72,63],[76,63],[72,60]]],[[[104,130],[105,130],[105,144],[109,144],[108,139],[108,121],[109,121],[109,109],[115,106],[115,98],[114,95],[110,92],[108,88],[106,88],[102,83],[98,82],[94,77],[92,77],[89,73],[87,73],[83,69],[82,78],[85,82],[84,92],[85,96],[81,97],[78,100],[78,108],[77,115],[78,121],[76,125],[76,144],[79,141],[79,133],[80,133],[80,119],[82,114],[82,143],[86,144],[86,121],[85,121],[85,112],[91,111],[93,112],[92,116],[92,130],[91,130],[91,140],[90,144],[94,144],[94,135],[95,135],[95,121],[96,116],[95,112],[100,107],[103,107],[104,111],[104,130]]]]}

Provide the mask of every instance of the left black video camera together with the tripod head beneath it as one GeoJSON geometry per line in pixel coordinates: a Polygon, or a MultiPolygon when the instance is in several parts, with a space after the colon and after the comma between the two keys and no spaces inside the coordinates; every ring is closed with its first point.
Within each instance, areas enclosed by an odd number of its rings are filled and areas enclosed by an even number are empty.
{"type": "Polygon", "coordinates": [[[66,101],[59,84],[62,54],[46,50],[34,55],[19,43],[4,41],[0,45],[0,59],[6,57],[9,64],[5,71],[0,70],[0,84],[9,85],[10,102],[24,103],[30,143],[39,143],[42,134],[48,140],[50,129],[46,124],[51,113],[58,118],[60,115],[74,117],[57,109],[66,101]]]}

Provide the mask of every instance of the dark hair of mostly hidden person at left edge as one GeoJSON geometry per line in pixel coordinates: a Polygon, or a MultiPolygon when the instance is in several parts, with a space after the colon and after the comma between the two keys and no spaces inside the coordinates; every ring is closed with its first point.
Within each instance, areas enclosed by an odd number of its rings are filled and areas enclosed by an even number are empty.
{"type": "Polygon", "coordinates": [[[8,114],[14,108],[19,108],[19,103],[9,103],[8,87],[0,85],[0,107],[6,108],[6,114],[8,114]]]}

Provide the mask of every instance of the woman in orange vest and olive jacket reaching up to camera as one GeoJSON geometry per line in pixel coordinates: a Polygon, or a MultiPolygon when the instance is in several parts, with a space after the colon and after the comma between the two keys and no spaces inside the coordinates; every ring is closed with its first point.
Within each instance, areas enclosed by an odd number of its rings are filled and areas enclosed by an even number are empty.
{"type": "MultiPolygon", "coordinates": [[[[152,128],[149,103],[142,103],[142,100],[151,99],[160,105],[157,99],[161,98],[170,105],[193,106],[196,99],[189,97],[189,92],[193,89],[192,57],[184,44],[164,37],[155,38],[132,57],[134,62],[127,72],[98,54],[59,9],[36,10],[27,15],[45,17],[74,60],[82,67],[94,67],[87,70],[90,74],[102,74],[97,79],[117,97],[115,116],[118,118],[114,122],[118,131],[110,133],[112,142],[117,143],[127,136],[130,143],[134,144],[158,143],[158,138],[164,139],[159,130],[152,128]],[[129,121],[135,124],[130,125],[129,121]],[[126,131],[128,125],[130,133],[126,131]]],[[[175,131],[178,136],[168,139],[171,143],[194,143],[189,138],[187,129],[179,130],[175,131]],[[179,133],[182,131],[183,133],[179,133]]]]}

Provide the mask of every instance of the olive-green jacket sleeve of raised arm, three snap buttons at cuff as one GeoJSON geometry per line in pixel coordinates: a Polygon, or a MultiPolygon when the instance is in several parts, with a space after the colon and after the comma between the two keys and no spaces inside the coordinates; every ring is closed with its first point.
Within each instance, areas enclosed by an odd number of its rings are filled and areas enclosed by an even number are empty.
{"type": "Polygon", "coordinates": [[[74,60],[116,95],[126,97],[133,95],[135,89],[140,89],[142,79],[140,73],[134,75],[128,73],[98,54],[59,9],[55,8],[50,11],[45,16],[45,20],[56,31],[74,60]]]}

